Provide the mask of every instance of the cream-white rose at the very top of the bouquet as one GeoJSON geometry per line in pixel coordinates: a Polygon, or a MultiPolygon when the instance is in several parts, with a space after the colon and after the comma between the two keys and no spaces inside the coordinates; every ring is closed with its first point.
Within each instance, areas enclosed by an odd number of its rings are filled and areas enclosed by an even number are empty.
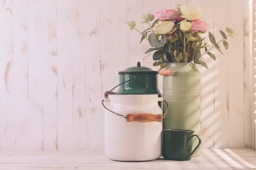
{"type": "Polygon", "coordinates": [[[180,11],[183,18],[188,20],[200,19],[198,16],[201,13],[201,8],[198,6],[180,6],[180,11]]]}

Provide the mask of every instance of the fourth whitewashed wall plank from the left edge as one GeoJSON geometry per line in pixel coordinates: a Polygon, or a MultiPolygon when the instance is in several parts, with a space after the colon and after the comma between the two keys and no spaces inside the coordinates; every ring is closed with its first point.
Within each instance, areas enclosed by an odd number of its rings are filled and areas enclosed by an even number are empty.
{"type": "Polygon", "coordinates": [[[44,150],[58,150],[57,0],[44,0],[44,150]]]}

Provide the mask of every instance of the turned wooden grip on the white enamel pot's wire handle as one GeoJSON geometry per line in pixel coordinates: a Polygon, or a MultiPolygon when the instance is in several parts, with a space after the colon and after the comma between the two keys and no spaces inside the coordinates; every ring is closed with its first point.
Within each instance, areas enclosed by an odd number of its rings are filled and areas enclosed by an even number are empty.
{"type": "Polygon", "coordinates": [[[148,114],[148,113],[139,113],[139,114],[127,114],[127,122],[162,122],[163,117],[161,114],[148,114]]]}

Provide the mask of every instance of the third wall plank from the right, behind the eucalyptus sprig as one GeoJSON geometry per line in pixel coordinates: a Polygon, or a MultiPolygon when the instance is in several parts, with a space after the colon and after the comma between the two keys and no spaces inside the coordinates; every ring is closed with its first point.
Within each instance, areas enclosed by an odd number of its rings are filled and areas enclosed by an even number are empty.
{"type": "MultiPolygon", "coordinates": [[[[228,0],[215,0],[214,1],[214,33],[217,42],[221,40],[222,36],[219,30],[225,31],[225,28],[229,26],[228,20],[230,20],[228,12],[228,0]]],[[[225,31],[226,32],[226,31],[225,31]]],[[[229,39],[229,41],[233,41],[229,39]]],[[[221,44],[222,45],[222,44],[221,44]]],[[[223,49],[223,48],[221,48],[223,49]]],[[[215,148],[229,148],[229,117],[230,117],[230,99],[229,99],[229,69],[231,50],[224,51],[225,56],[222,56],[216,49],[212,50],[212,53],[216,57],[215,61],[215,74],[214,74],[214,121],[215,121],[215,148]]],[[[241,134],[240,134],[241,135],[241,134]]]]}

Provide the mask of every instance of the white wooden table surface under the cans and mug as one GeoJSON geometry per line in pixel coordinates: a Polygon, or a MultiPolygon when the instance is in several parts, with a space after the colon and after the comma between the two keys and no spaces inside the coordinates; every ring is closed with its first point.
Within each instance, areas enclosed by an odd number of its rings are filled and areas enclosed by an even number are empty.
{"type": "Polygon", "coordinates": [[[146,162],[108,160],[102,153],[0,152],[0,170],[256,170],[256,150],[201,150],[201,156],[190,161],[169,161],[160,158],[146,162]]]}

